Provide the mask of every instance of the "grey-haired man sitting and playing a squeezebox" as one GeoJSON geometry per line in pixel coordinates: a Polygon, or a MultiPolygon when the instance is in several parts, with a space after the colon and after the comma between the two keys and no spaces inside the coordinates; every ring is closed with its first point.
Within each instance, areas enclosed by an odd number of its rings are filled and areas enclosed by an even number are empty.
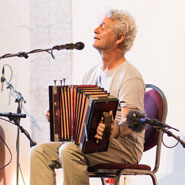
{"type": "MultiPolygon", "coordinates": [[[[125,59],[131,48],[136,26],[124,12],[112,10],[94,30],[93,46],[101,54],[102,63],[92,68],[84,84],[97,84],[116,96],[121,105],[117,121],[113,121],[108,151],[83,154],[72,142],[47,143],[36,146],[31,153],[31,185],[55,184],[54,168],[63,168],[64,185],[88,185],[87,167],[100,162],[138,163],[144,143],[144,131],[135,133],[127,127],[130,109],[143,110],[145,84],[137,69],[125,59]]],[[[99,124],[96,138],[101,139],[104,124],[99,124]]]]}

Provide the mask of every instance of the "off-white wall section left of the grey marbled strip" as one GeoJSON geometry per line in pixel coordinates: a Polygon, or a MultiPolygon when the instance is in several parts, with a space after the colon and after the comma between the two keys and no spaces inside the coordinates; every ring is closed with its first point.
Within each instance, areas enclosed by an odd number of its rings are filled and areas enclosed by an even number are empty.
{"type": "MultiPolygon", "coordinates": [[[[19,51],[29,51],[30,49],[30,32],[29,32],[29,1],[1,1],[0,3],[0,56],[6,53],[17,53],[19,51]]],[[[29,73],[29,59],[14,57],[0,60],[0,71],[2,66],[9,64],[13,70],[13,77],[11,83],[15,90],[20,92],[27,103],[24,104],[23,113],[29,112],[30,109],[30,73],[29,73]]],[[[10,69],[5,67],[5,78],[9,81],[10,69]]],[[[3,92],[0,91],[0,112],[14,112],[16,113],[17,103],[15,98],[10,94],[10,90],[6,89],[4,84],[3,92]]],[[[29,119],[21,119],[21,125],[29,131],[29,119]]],[[[11,123],[0,120],[0,127],[4,133],[4,139],[12,152],[12,162],[3,170],[0,171],[1,185],[16,184],[16,139],[17,127],[11,123]],[[5,173],[4,173],[5,172],[5,173]]],[[[20,134],[20,165],[23,171],[25,180],[28,179],[29,166],[29,150],[30,143],[24,134],[20,134]]],[[[0,140],[1,159],[0,166],[2,167],[10,159],[10,154],[5,145],[0,140]],[[4,154],[4,155],[2,155],[4,154]]],[[[20,184],[23,184],[20,175],[20,184]]]]}

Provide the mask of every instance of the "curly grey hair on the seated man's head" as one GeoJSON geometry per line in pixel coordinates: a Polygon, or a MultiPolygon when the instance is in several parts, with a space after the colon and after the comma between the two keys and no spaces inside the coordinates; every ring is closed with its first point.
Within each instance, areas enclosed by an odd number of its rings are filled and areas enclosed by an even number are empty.
{"type": "Polygon", "coordinates": [[[123,52],[126,53],[130,50],[136,37],[136,24],[134,18],[128,13],[120,10],[110,10],[106,14],[110,19],[116,21],[113,27],[113,32],[118,38],[124,34],[125,39],[121,43],[123,52]]]}

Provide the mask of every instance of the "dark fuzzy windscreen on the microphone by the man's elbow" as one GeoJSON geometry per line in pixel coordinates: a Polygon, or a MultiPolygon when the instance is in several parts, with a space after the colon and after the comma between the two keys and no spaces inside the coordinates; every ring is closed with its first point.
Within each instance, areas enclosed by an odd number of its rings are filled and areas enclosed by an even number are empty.
{"type": "Polygon", "coordinates": [[[127,126],[135,132],[142,132],[145,129],[145,124],[140,120],[144,118],[145,115],[141,111],[130,110],[127,114],[127,126]]]}

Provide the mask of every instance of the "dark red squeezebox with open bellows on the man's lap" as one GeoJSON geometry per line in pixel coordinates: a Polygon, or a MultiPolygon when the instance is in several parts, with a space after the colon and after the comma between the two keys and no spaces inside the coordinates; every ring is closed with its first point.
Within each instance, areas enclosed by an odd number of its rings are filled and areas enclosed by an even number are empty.
{"type": "Polygon", "coordinates": [[[72,141],[83,153],[107,151],[117,106],[118,99],[96,85],[49,86],[50,140],[72,141]],[[100,122],[105,131],[97,140],[100,122]]]}

